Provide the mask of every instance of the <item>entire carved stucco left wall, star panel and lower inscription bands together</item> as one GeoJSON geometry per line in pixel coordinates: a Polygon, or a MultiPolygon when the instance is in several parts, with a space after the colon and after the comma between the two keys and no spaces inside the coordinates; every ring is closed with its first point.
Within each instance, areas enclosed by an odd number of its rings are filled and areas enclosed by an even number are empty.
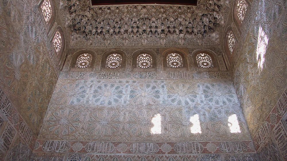
{"type": "Polygon", "coordinates": [[[37,5],[0,1],[1,160],[29,159],[63,63],[37,5]]]}

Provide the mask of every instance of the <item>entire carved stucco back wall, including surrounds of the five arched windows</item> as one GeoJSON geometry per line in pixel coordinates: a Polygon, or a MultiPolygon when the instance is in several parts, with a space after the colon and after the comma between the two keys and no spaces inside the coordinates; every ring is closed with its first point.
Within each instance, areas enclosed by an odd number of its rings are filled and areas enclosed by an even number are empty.
{"type": "MultiPolygon", "coordinates": [[[[136,71],[128,59],[139,48],[126,48],[125,68],[111,70],[100,68],[101,57],[109,49],[96,49],[98,61],[91,69],[75,69],[71,67],[77,50],[68,51],[70,60],[51,98],[34,160],[257,160],[224,63],[223,69],[219,65],[201,71],[170,70],[163,68],[161,57],[168,48],[154,48],[148,51],[160,57],[156,70],[136,71]],[[161,134],[151,133],[156,114],[162,117],[161,134]],[[189,118],[195,114],[201,134],[190,131],[189,118]],[[237,115],[241,133],[230,132],[232,114],[237,115]]],[[[196,51],[180,50],[188,57],[196,51]]],[[[205,50],[218,55],[221,51],[205,50]]],[[[187,60],[189,67],[192,60],[187,60]]]]}

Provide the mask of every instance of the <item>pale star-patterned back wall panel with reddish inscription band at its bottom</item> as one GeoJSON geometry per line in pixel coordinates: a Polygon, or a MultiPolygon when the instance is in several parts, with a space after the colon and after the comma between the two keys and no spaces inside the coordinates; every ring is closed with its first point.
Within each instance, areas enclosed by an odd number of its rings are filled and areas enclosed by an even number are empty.
{"type": "Polygon", "coordinates": [[[35,152],[245,154],[250,139],[230,79],[59,79],[35,152]],[[239,133],[228,126],[234,114],[239,133]],[[191,131],[195,115],[200,133],[191,131]]]}

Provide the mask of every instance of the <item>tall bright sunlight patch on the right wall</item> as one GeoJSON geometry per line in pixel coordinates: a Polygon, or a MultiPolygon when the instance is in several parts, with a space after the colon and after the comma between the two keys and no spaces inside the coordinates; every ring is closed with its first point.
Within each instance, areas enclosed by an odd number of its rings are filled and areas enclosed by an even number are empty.
{"type": "Polygon", "coordinates": [[[257,37],[256,56],[257,56],[258,68],[261,70],[263,69],[263,63],[265,60],[267,45],[268,45],[268,36],[267,34],[265,34],[264,30],[260,26],[257,37]]]}

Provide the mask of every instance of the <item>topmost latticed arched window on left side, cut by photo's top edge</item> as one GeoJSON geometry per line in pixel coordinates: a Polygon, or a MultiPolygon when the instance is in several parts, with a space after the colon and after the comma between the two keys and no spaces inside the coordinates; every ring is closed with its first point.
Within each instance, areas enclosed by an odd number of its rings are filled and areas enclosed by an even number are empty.
{"type": "Polygon", "coordinates": [[[39,9],[43,14],[44,20],[47,23],[48,29],[51,28],[51,24],[55,21],[56,11],[53,1],[42,0],[39,5],[39,9]]]}

